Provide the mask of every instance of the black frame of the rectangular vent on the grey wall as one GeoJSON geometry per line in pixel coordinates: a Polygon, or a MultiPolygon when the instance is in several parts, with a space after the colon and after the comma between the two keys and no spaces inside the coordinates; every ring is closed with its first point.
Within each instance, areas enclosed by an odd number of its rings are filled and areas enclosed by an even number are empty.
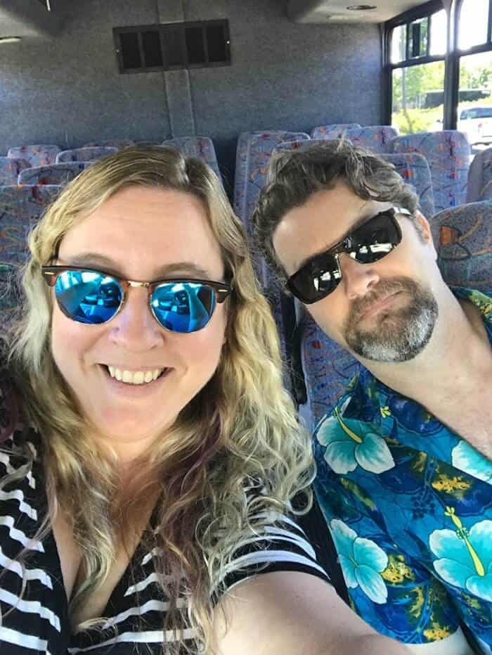
{"type": "Polygon", "coordinates": [[[119,73],[122,75],[134,75],[135,73],[166,71],[166,70],[193,70],[195,68],[220,68],[222,66],[231,65],[231,37],[229,32],[229,21],[226,18],[216,20],[194,20],[186,21],[183,23],[153,23],[152,25],[133,25],[125,27],[113,27],[112,30],[113,41],[115,44],[115,54],[119,73]],[[207,27],[220,25],[224,32],[226,61],[209,61],[209,51],[207,42],[207,27]],[[186,28],[188,27],[201,27],[203,35],[203,49],[205,53],[205,61],[200,63],[190,63],[188,61],[188,49],[186,47],[186,28]],[[124,68],[122,44],[119,39],[119,34],[134,32],[138,37],[138,50],[142,66],[140,68],[124,68]],[[142,44],[143,32],[158,32],[160,39],[160,50],[162,55],[162,66],[145,66],[145,52],[142,44]],[[181,46],[181,61],[179,64],[169,64],[165,42],[167,35],[173,32],[179,34],[179,44],[181,46]]]}

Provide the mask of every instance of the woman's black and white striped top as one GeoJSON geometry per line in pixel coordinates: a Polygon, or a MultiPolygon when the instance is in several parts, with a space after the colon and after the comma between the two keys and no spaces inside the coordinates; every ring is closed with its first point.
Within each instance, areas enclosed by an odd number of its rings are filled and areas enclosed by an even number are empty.
{"type": "MultiPolygon", "coordinates": [[[[0,397],[0,407],[2,404],[0,397]]],[[[5,431],[1,416],[0,432],[5,431]]],[[[0,479],[14,471],[22,472],[17,481],[0,490],[0,654],[162,654],[163,640],[173,640],[174,633],[164,635],[167,599],[157,584],[153,554],[145,552],[142,544],[112,592],[103,613],[108,617],[103,629],[71,634],[53,533],[49,530],[42,542],[34,540],[47,511],[39,435],[32,428],[14,431],[0,448],[0,479]],[[26,460],[19,454],[21,439],[34,454],[30,471],[22,472],[26,460]],[[29,549],[29,557],[25,561],[25,591],[20,599],[22,569],[15,560],[24,548],[29,549]]],[[[276,520],[266,525],[264,534],[235,554],[224,572],[226,588],[270,571],[305,571],[328,580],[302,529],[288,516],[273,518],[276,520]]],[[[193,640],[193,633],[185,630],[183,637],[193,640]]]]}

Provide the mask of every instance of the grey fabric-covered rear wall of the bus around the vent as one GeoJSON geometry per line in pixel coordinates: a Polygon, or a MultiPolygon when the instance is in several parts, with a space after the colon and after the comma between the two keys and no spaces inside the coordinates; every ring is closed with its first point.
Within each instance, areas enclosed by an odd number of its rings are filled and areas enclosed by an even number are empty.
{"type": "Polygon", "coordinates": [[[229,189],[238,134],[381,122],[377,25],[297,25],[281,0],[52,0],[53,39],[0,46],[0,155],[97,139],[214,140],[229,189]],[[112,27],[228,18],[231,66],[120,75],[112,27]]]}

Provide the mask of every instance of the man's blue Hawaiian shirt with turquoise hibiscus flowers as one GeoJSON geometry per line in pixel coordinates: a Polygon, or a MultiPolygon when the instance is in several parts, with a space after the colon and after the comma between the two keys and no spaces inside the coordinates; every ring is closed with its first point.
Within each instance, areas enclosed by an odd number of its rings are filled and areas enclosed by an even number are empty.
{"type": "MultiPolygon", "coordinates": [[[[492,344],[492,293],[453,291],[479,307],[492,344]]],[[[465,624],[492,654],[492,462],[365,369],[314,447],[353,609],[414,644],[465,624]]]]}

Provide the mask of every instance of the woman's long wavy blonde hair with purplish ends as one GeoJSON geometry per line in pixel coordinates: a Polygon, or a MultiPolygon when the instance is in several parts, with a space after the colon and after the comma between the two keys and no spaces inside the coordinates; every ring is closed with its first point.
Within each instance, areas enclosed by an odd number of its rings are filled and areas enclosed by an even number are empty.
{"type": "MultiPolygon", "coordinates": [[[[27,419],[41,435],[52,512],[62,508],[72,517],[82,552],[86,575],[70,612],[74,616],[101,587],[125,526],[157,490],[159,527],[145,532],[145,545],[169,597],[163,628],[164,635],[173,631],[174,639],[163,644],[163,651],[198,647],[212,652],[212,599],[220,594],[233,553],[266,516],[291,507],[294,496],[299,513],[308,509],[313,478],[309,437],[283,388],[276,326],[254,276],[245,229],[221,182],[202,161],[174,148],[140,146],[99,160],[67,184],[32,230],[29,247],[24,300],[6,338],[8,370],[22,392],[27,419]],[[233,293],[226,301],[226,341],[214,376],[142,458],[133,487],[138,492],[116,502],[115,459],[98,452],[88,438],[77,399],[53,362],[53,298],[41,266],[56,257],[72,226],[129,186],[200,198],[233,293]],[[252,492],[260,486],[261,492],[252,492]],[[184,642],[189,630],[193,646],[184,642]]],[[[7,476],[2,486],[8,481],[7,476]]],[[[43,529],[49,529],[48,518],[43,529]]],[[[103,620],[74,628],[98,628],[103,620]]]]}

